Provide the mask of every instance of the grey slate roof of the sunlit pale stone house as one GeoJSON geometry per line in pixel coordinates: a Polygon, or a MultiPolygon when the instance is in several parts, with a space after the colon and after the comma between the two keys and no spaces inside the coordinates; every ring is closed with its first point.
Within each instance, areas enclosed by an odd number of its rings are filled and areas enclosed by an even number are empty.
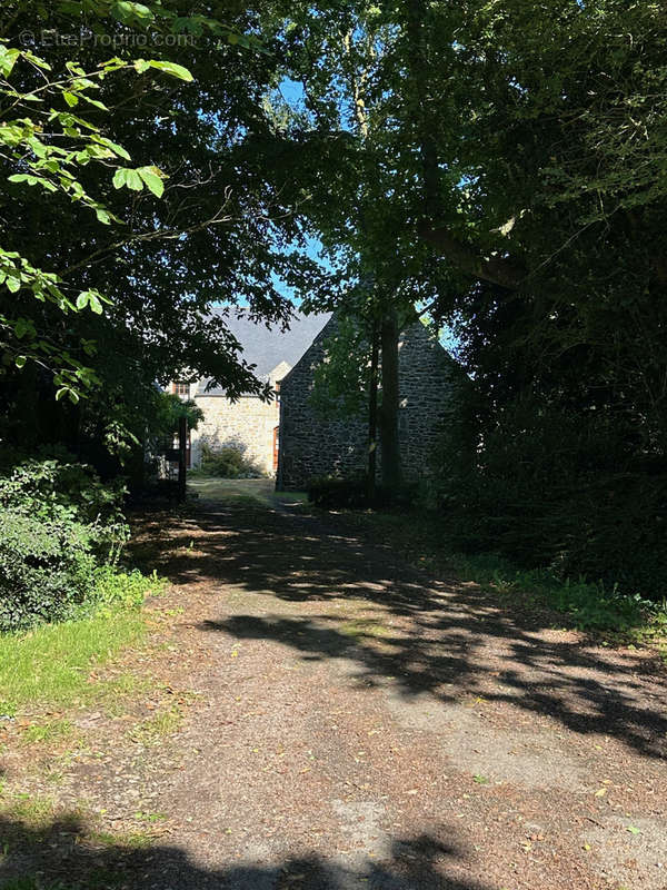
{"type": "MultiPolygon", "coordinates": [[[[222,312],[220,314],[223,315],[222,312]]],[[[230,313],[225,316],[225,324],[243,347],[240,357],[249,365],[256,365],[256,377],[268,380],[269,374],[281,362],[287,362],[290,367],[297,364],[329,318],[329,313],[305,315],[297,312],[290,319],[289,329],[282,330],[280,325],[268,328],[261,322],[255,323],[230,313]]],[[[219,386],[207,392],[206,384],[207,380],[200,380],[197,392],[213,396],[226,395],[225,389],[219,386]]]]}

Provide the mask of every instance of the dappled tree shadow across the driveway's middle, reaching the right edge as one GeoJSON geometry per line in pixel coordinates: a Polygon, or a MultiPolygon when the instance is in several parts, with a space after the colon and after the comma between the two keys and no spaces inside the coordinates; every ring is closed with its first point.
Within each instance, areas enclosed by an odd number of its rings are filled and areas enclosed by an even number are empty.
{"type": "Polygon", "coordinates": [[[170,526],[157,521],[146,546],[151,565],[176,583],[305,604],[298,616],[249,607],[207,621],[209,631],[276,640],[308,660],[345,657],[357,682],[390,682],[405,696],[484,696],[577,733],[614,736],[646,756],[666,754],[667,683],[640,652],[596,647],[474,584],[429,577],[339,517],[207,505],[170,526]],[[336,613],[340,603],[355,603],[362,621],[336,613]]]}

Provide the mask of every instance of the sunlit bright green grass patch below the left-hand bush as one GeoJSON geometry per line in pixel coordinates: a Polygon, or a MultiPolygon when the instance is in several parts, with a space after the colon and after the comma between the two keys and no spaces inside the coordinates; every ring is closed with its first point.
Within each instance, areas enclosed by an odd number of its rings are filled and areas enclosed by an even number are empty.
{"type": "Polygon", "coordinates": [[[0,635],[0,700],[3,713],[28,704],[68,706],[92,694],[88,676],[125,646],[136,643],[145,620],[119,610],[24,634],[0,635]]]}

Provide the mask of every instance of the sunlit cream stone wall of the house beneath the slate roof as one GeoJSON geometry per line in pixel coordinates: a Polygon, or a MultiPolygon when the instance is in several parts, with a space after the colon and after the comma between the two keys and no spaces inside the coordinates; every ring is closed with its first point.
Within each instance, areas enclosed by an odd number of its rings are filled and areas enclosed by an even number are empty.
{"type": "Polygon", "coordinates": [[[232,403],[225,396],[196,395],[205,419],[192,431],[192,466],[201,463],[201,445],[213,451],[240,448],[268,475],[273,473],[273,429],[278,426],[278,403],[257,396],[241,396],[232,403]]]}

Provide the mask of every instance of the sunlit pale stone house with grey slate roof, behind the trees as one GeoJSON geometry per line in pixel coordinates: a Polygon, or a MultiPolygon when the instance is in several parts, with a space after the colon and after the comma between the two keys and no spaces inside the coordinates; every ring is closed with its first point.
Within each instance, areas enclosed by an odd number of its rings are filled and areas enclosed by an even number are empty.
{"type": "MultiPolygon", "coordinates": [[[[225,317],[225,324],[243,347],[242,358],[255,365],[258,379],[269,383],[276,394],[285,375],[299,362],[328,315],[297,313],[289,330],[268,328],[247,317],[225,317]]],[[[191,398],[203,412],[203,421],[190,434],[188,466],[201,464],[202,445],[213,451],[228,446],[239,448],[267,475],[278,467],[279,406],[278,397],[262,400],[252,394],[230,402],[223,389],[207,388],[208,380],[173,380],[168,389],[182,398],[191,398]]]]}

